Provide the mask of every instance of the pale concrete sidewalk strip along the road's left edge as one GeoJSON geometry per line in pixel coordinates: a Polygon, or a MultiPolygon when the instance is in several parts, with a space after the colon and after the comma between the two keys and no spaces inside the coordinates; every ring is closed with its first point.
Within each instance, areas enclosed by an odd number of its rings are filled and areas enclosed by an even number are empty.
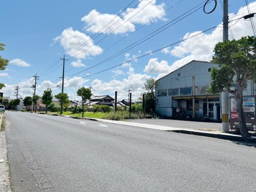
{"type": "MultiPolygon", "coordinates": [[[[0,125],[2,123],[3,115],[1,114],[0,125]]],[[[11,192],[9,181],[9,165],[7,164],[7,150],[6,150],[6,133],[0,131],[0,191],[11,192]]]]}

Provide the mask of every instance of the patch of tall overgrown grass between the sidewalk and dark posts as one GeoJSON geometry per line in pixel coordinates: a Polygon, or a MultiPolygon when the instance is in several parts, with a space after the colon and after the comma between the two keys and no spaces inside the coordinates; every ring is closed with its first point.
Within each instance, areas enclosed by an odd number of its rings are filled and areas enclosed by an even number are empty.
{"type": "Polygon", "coordinates": [[[123,119],[144,119],[144,114],[142,112],[129,113],[128,111],[117,111],[110,112],[102,119],[116,120],[120,121],[123,119]]]}

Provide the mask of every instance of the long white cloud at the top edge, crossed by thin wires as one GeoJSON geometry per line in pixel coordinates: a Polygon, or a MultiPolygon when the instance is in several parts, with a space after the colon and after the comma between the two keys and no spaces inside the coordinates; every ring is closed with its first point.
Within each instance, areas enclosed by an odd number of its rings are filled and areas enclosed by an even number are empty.
{"type": "Polygon", "coordinates": [[[135,9],[128,8],[126,12],[122,13],[122,16],[123,16],[122,19],[119,16],[116,17],[116,15],[113,15],[113,14],[101,14],[100,12],[97,12],[96,9],[93,9],[92,11],[90,11],[89,14],[82,17],[81,20],[86,23],[85,29],[88,32],[94,32],[94,33],[99,32],[109,22],[110,23],[102,30],[103,33],[109,34],[119,26],[120,27],[116,29],[113,32],[113,34],[124,34],[126,32],[134,32],[135,31],[134,24],[149,24],[151,21],[154,22],[154,21],[157,21],[158,19],[165,20],[164,18],[164,16],[166,15],[166,12],[164,10],[165,4],[161,3],[160,5],[156,5],[156,0],[153,0],[151,3],[150,1],[151,0],[143,0],[137,6],[137,8],[135,9]],[[144,6],[145,8],[143,8],[144,6]],[[130,17],[131,19],[129,20],[130,17]]]}

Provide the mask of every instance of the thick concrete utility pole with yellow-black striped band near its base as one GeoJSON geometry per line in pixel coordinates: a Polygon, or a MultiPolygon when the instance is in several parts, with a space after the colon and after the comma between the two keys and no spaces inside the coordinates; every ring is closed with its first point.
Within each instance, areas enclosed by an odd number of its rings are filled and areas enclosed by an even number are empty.
{"type": "MultiPolygon", "coordinates": [[[[223,0],[223,41],[228,40],[228,0],[223,0]]],[[[229,132],[229,94],[224,87],[222,92],[222,131],[229,132]]]]}

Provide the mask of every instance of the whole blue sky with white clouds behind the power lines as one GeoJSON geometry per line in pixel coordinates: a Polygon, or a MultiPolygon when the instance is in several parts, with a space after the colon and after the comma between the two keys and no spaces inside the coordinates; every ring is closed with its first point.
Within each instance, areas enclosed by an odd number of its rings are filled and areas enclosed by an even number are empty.
{"type": "MultiPolygon", "coordinates": [[[[61,79],[59,79],[62,75],[61,62],[54,65],[53,71],[49,70],[47,73],[43,73],[44,70],[63,57],[63,54],[69,53],[88,40],[88,45],[77,50],[73,55],[66,56],[70,59],[65,64],[65,83],[73,82],[65,84],[64,92],[69,94],[70,99],[74,97],[79,99],[76,96],[76,90],[82,86],[89,87],[91,85],[94,95],[113,96],[114,91],[117,90],[121,100],[128,97],[127,90],[130,87],[133,90],[134,98],[136,98],[143,92],[142,86],[145,79],[151,76],[159,78],[193,59],[209,61],[215,43],[222,39],[222,29],[212,29],[168,49],[128,62],[122,67],[116,67],[85,79],[81,79],[81,77],[129,61],[146,52],[195,35],[213,26],[221,26],[222,9],[220,1],[218,1],[215,11],[211,14],[207,15],[203,9],[199,9],[137,47],[97,67],[86,70],[202,2],[203,0],[73,0],[72,2],[67,0],[45,0],[42,2],[23,0],[14,3],[3,0],[1,6],[4,9],[0,13],[2,26],[0,42],[6,44],[6,48],[5,51],[0,52],[0,55],[10,60],[7,70],[0,72],[0,82],[6,84],[2,90],[4,96],[14,97],[14,86],[17,84],[20,86],[20,96],[31,96],[32,89],[30,87],[33,84],[31,78],[35,73],[39,73],[40,76],[37,85],[39,95],[47,87],[52,87],[53,93],[60,92],[60,88],[56,86],[61,84],[61,79]],[[131,5],[128,6],[130,3],[131,5]],[[136,4],[138,5],[136,6],[136,4]],[[98,38],[94,36],[93,41],[90,39],[126,6],[128,9],[119,16],[122,17],[128,12],[127,15],[120,20],[117,17],[111,23],[116,21],[113,26],[108,25],[111,28],[105,28],[107,29],[105,32],[103,32],[105,29],[102,30],[98,38]],[[131,9],[133,7],[134,9],[131,9]],[[129,19],[130,17],[131,19],[129,19]],[[117,27],[119,28],[116,29],[117,27]],[[114,32],[108,35],[112,31],[114,32]],[[105,39],[96,43],[106,35],[108,36],[105,39]],[[84,52],[79,54],[81,51],[84,52]],[[75,57],[71,58],[72,56],[75,57]],[[79,73],[82,70],[86,71],[79,73]],[[74,73],[78,74],[70,76],[74,73]],[[76,79],[80,80],[74,81],[76,79]]],[[[248,2],[251,11],[255,12],[256,2],[253,0],[248,0],[248,2]]],[[[213,6],[213,2],[209,3],[207,10],[213,6]]],[[[246,15],[247,8],[245,6],[244,0],[229,0],[230,20],[246,15]]],[[[235,21],[231,25],[234,23],[235,21]]],[[[243,19],[239,20],[231,29],[236,39],[244,35],[253,35],[250,21],[243,19]]]]}

